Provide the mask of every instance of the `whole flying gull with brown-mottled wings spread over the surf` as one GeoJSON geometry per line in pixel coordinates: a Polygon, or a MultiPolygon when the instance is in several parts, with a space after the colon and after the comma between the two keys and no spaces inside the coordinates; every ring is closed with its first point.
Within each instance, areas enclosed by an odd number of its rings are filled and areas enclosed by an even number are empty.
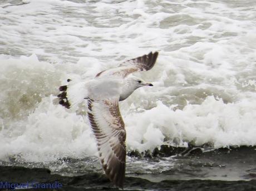
{"type": "MultiPolygon", "coordinates": [[[[124,188],[126,163],[126,131],[119,101],[125,100],[137,88],[153,86],[130,74],[149,71],[154,67],[157,56],[158,52],[150,52],[129,59],[116,68],[102,71],[91,81],[80,84],[80,88],[77,88],[78,92],[82,92],[80,94],[72,94],[71,90],[74,88],[69,85],[59,88],[59,103],[66,108],[72,107],[70,98],[80,97],[80,101],[87,99],[87,115],[96,138],[102,168],[111,182],[119,188],[124,188]]],[[[71,79],[67,81],[71,82],[71,79]]]]}

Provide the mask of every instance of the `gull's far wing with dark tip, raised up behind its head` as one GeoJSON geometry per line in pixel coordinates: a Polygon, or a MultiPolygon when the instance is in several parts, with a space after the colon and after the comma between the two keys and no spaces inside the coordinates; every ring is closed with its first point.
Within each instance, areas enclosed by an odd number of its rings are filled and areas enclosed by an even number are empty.
{"type": "Polygon", "coordinates": [[[154,67],[157,56],[158,56],[158,52],[154,52],[154,53],[150,52],[149,54],[145,54],[141,57],[137,57],[134,59],[130,59],[126,62],[123,62],[117,68],[112,68],[106,71],[102,71],[99,74],[97,74],[96,77],[114,75],[114,76],[121,76],[122,78],[125,78],[126,76],[128,76],[133,72],[148,71],[152,67],[154,67]]]}

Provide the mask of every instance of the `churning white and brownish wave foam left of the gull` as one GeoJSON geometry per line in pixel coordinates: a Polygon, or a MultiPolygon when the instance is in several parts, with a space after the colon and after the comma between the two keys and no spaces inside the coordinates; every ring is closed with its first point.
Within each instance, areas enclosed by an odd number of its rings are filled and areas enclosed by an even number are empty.
{"type": "Polygon", "coordinates": [[[63,75],[57,66],[39,62],[35,55],[1,62],[1,159],[20,155],[47,161],[95,154],[87,119],[53,104],[63,75]]]}

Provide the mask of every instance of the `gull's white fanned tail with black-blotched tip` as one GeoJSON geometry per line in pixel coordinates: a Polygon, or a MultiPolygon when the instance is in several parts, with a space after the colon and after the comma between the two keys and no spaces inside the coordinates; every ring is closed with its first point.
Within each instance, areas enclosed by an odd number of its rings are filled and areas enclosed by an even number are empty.
{"type": "MultiPolygon", "coordinates": [[[[70,81],[71,79],[67,80],[67,82],[70,81]]],[[[85,82],[68,83],[68,85],[60,86],[58,89],[61,92],[57,96],[59,98],[58,103],[67,109],[77,107],[87,97],[85,82]]]]}

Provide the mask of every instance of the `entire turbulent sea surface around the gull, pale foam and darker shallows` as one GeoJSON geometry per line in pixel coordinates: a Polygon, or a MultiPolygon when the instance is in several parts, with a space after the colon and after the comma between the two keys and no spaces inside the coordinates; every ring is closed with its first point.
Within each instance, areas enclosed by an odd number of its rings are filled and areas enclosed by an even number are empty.
{"type": "Polygon", "coordinates": [[[125,187],[256,190],[254,0],[1,0],[0,178],[48,168],[38,181],[111,187],[86,103],[63,108],[58,87],[150,51],[155,67],[136,76],[154,87],[120,102],[125,187]]]}

